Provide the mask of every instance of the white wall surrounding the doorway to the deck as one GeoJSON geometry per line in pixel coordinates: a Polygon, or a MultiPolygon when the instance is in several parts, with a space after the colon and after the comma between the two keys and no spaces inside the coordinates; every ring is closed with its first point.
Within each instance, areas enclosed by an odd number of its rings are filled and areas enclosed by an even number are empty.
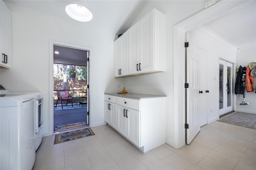
{"type": "MultiPolygon", "coordinates": [[[[44,135],[50,135],[49,40],[92,48],[90,58],[90,123],[104,122],[104,92],[116,90],[122,80],[114,79],[113,42],[110,30],[90,28],[83,22],[68,21],[6,3],[11,11],[12,68],[0,69],[0,83],[11,92],[41,91],[44,97],[44,135]]],[[[112,31],[113,32],[113,31],[112,31]]]]}

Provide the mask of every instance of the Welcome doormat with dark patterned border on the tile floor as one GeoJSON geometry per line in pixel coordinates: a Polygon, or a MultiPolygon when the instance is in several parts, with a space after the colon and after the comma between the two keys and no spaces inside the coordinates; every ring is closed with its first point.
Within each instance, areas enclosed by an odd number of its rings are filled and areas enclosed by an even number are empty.
{"type": "Polygon", "coordinates": [[[55,134],[54,144],[67,142],[70,140],[80,139],[87,136],[94,135],[94,132],[91,128],[84,128],[82,130],[74,130],[72,132],[64,132],[60,134],[55,134]]]}

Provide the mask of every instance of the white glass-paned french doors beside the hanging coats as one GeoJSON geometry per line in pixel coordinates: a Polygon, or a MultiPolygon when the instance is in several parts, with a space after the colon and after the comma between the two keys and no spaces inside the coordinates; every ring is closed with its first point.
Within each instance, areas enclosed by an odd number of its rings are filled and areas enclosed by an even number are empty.
{"type": "Polygon", "coordinates": [[[233,64],[219,60],[219,116],[233,111],[233,64]]]}

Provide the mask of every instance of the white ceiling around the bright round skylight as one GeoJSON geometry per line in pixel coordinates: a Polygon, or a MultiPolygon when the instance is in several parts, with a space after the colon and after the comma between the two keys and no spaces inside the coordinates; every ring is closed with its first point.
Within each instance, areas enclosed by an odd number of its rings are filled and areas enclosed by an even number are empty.
{"type": "MultiPolygon", "coordinates": [[[[65,12],[66,5],[72,1],[74,0],[4,0],[4,2],[24,6],[71,22],[78,22],[65,12]]],[[[77,0],[76,2],[88,8],[93,14],[92,20],[83,24],[91,28],[104,27],[111,31],[110,34],[118,35],[130,27],[133,18],[147,0],[77,0]]]]}

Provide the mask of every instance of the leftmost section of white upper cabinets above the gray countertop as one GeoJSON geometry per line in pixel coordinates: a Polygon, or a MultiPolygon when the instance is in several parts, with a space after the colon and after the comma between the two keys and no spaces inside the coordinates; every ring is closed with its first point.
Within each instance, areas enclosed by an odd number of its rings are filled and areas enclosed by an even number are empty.
{"type": "Polygon", "coordinates": [[[128,75],[128,33],[114,42],[114,77],[128,75]]]}

